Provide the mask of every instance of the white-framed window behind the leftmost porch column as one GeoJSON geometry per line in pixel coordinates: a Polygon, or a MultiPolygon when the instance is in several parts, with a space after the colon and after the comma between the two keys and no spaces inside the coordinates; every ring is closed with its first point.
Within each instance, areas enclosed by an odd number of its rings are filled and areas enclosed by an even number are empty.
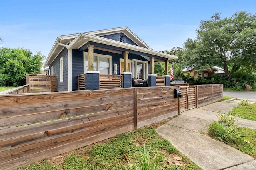
{"type": "MultiPolygon", "coordinates": [[[[111,75],[111,55],[93,54],[93,68],[100,74],[111,75]]],[[[84,73],[88,70],[88,53],[84,52],[84,73]]]]}

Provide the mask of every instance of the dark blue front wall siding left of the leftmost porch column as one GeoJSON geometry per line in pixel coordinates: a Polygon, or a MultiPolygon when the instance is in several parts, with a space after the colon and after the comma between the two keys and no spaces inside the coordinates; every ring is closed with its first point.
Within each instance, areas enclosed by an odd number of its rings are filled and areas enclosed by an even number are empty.
{"type": "Polygon", "coordinates": [[[78,75],[84,74],[83,51],[72,49],[72,90],[78,90],[78,75]]]}

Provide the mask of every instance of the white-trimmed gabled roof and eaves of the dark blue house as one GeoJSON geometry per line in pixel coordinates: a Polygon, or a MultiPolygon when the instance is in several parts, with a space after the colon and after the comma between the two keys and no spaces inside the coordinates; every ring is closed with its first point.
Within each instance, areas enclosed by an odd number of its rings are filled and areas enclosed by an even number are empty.
{"type": "Polygon", "coordinates": [[[67,49],[78,49],[82,47],[85,43],[89,41],[94,43],[102,43],[105,45],[111,45],[114,47],[119,47],[123,49],[129,49],[132,51],[140,51],[142,53],[146,53],[152,56],[164,57],[166,59],[177,59],[177,56],[158,52],[152,50],[144,41],[142,41],[137,35],[135,35],[128,27],[118,27],[112,29],[104,29],[99,31],[90,31],[86,33],[76,33],[70,35],[62,35],[58,36],[46,61],[44,63],[44,67],[49,66],[52,61],[57,57],[57,55],[66,47],[67,49]],[[136,45],[131,45],[128,43],[122,43],[120,41],[115,41],[112,39],[107,39],[104,35],[111,35],[115,33],[124,33],[128,38],[130,38],[136,45]]]}

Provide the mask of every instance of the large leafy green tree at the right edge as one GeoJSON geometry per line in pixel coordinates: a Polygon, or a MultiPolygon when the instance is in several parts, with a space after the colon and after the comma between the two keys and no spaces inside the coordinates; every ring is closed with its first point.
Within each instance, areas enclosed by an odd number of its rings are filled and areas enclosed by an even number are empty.
{"type": "Polygon", "coordinates": [[[184,66],[195,69],[220,66],[225,70],[226,80],[231,80],[241,67],[255,72],[256,14],[241,11],[221,19],[220,13],[216,13],[210,20],[201,21],[196,31],[197,38],[184,44],[180,56],[184,66]]]}

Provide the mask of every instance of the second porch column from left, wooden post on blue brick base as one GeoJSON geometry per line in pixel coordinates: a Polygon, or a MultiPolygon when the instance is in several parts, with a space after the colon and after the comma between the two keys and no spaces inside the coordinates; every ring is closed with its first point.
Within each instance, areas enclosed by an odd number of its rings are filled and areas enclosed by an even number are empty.
{"type": "Polygon", "coordinates": [[[129,52],[123,51],[124,55],[124,72],[121,72],[123,75],[123,88],[132,87],[132,73],[129,72],[129,52]]]}

